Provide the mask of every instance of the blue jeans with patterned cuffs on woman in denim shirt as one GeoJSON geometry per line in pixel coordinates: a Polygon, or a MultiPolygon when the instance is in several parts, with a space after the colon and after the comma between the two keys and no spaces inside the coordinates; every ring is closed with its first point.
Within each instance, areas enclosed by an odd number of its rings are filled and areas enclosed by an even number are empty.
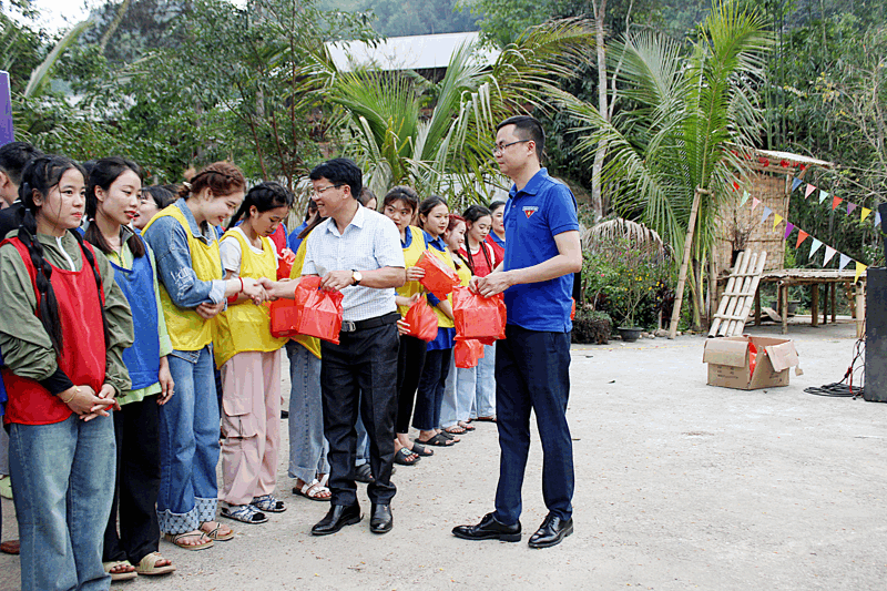
{"type": "Polygon", "coordinates": [[[213,348],[167,356],[175,396],[160,409],[157,520],[164,533],[185,533],[215,519],[218,483],[218,399],[213,348]]]}

